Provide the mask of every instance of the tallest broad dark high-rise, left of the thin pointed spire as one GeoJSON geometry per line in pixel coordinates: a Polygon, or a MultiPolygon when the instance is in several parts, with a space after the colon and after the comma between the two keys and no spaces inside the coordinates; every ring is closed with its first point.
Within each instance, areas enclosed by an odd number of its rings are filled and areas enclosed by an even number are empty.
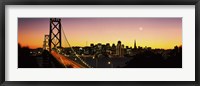
{"type": "Polygon", "coordinates": [[[119,57],[124,57],[124,48],[121,44],[121,41],[118,41],[117,47],[116,47],[116,55],[119,57]]]}

